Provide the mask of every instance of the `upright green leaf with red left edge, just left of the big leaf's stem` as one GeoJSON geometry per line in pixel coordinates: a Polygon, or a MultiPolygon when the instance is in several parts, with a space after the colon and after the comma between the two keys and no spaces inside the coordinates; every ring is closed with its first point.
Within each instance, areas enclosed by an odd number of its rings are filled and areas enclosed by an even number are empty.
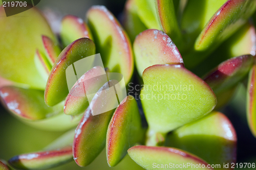
{"type": "Polygon", "coordinates": [[[106,133],[106,158],[110,166],[117,165],[136,143],[142,143],[144,130],[136,100],[129,95],[117,107],[106,133]]]}

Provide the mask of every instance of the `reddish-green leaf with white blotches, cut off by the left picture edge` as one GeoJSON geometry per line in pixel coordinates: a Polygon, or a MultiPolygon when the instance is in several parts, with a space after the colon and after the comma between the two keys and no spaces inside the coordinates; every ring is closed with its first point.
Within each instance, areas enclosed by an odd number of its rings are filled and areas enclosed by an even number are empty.
{"type": "Polygon", "coordinates": [[[61,106],[48,107],[44,91],[7,86],[0,89],[1,100],[11,113],[27,120],[39,120],[58,114],[61,106]]]}

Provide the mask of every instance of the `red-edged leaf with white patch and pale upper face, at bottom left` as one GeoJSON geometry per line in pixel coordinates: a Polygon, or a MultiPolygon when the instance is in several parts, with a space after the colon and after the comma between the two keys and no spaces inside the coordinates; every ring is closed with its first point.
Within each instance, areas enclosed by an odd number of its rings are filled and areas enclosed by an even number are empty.
{"type": "Polygon", "coordinates": [[[73,160],[72,143],[75,130],[58,137],[43,151],[14,156],[9,163],[18,169],[46,169],[73,160]]]}

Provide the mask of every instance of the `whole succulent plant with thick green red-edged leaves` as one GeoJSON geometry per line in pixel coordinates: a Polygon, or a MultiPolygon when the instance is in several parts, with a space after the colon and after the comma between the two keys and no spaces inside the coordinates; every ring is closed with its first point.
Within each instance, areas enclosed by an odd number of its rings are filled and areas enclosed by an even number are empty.
{"type": "Polygon", "coordinates": [[[72,160],[92,169],[231,169],[237,134],[218,110],[249,75],[247,118],[256,136],[256,33],[249,20],[255,9],[255,0],[128,0],[122,25],[93,6],[87,22],[67,15],[54,35],[35,7],[10,17],[0,7],[1,102],[31,130],[55,138],[0,160],[0,169],[49,169],[72,160]],[[105,68],[82,62],[98,53],[105,68]],[[121,101],[119,80],[105,79],[113,72],[129,91],[121,101]],[[103,107],[108,111],[94,114],[103,107]]]}

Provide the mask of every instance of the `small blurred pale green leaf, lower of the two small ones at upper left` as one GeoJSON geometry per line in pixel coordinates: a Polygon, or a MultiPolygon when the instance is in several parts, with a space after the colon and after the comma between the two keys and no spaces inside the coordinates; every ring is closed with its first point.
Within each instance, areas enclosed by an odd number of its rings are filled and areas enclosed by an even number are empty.
{"type": "Polygon", "coordinates": [[[38,50],[36,50],[35,52],[34,60],[36,69],[38,70],[39,74],[44,80],[47,81],[50,71],[52,69],[52,65],[50,64],[49,60],[44,54],[40,53],[38,50]]]}

